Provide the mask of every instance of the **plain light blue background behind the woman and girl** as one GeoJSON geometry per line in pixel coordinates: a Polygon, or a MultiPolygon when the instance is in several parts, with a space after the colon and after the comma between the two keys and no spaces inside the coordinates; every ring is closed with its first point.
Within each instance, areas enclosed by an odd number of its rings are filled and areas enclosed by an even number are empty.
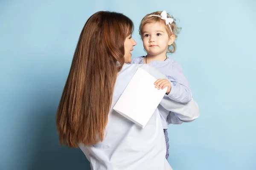
{"type": "Polygon", "coordinates": [[[59,146],[55,112],[84,23],[122,12],[138,34],[145,14],[166,10],[183,29],[170,57],[183,67],[201,116],[169,126],[174,170],[256,170],[256,1],[1,0],[0,170],[89,170],[59,146]],[[158,2],[157,2],[158,1],[158,2]]]}

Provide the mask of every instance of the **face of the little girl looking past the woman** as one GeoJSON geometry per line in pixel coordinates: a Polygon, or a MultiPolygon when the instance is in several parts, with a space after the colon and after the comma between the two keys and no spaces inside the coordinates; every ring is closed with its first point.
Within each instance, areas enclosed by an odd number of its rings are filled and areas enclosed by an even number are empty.
{"type": "Polygon", "coordinates": [[[148,23],[143,27],[142,40],[148,54],[166,55],[168,45],[172,45],[175,36],[169,37],[166,26],[162,23],[148,23]]]}

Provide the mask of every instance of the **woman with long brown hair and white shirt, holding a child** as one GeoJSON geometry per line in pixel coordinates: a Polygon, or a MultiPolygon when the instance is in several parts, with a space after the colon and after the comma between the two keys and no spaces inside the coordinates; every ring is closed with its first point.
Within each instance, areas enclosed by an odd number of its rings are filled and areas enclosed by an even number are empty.
{"type": "Polygon", "coordinates": [[[166,115],[156,110],[142,129],[112,109],[138,68],[165,78],[148,65],[126,64],[136,45],[133,28],[116,12],[99,11],[87,20],[58,106],[60,143],[80,147],[93,170],[171,170],[161,117],[179,124],[199,115],[193,100],[180,104],[164,96],[166,115]]]}

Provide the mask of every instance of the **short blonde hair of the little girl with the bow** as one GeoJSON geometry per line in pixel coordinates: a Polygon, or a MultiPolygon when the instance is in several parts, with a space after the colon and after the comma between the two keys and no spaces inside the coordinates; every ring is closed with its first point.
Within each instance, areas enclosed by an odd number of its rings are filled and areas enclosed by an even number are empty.
{"type": "MultiPolygon", "coordinates": [[[[142,32],[143,32],[143,27],[148,24],[148,23],[161,23],[164,25],[166,31],[167,31],[167,34],[169,35],[169,37],[171,35],[175,35],[175,39],[178,37],[177,34],[180,33],[180,30],[181,30],[181,27],[177,27],[176,23],[175,23],[175,19],[174,17],[170,16],[168,13],[167,13],[167,17],[169,18],[172,18],[173,19],[173,22],[170,25],[170,27],[172,28],[172,30],[169,28],[168,25],[166,25],[165,23],[165,20],[162,20],[160,17],[157,17],[157,16],[149,16],[149,15],[159,15],[162,13],[163,11],[156,11],[156,12],[152,12],[150,14],[147,14],[145,15],[145,17],[143,17],[143,19],[141,20],[140,22],[140,28],[139,28],[139,34],[140,34],[140,37],[142,39],[142,32]],[[148,17],[149,16],[149,17],[148,17]]],[[[177,48],[177,45],[175,42],[172,43],[172,45],[169,45],[168,46],[168,49],[167,49],[167,53],[174,53],[176,51],[176,48],[177,48]]]]}

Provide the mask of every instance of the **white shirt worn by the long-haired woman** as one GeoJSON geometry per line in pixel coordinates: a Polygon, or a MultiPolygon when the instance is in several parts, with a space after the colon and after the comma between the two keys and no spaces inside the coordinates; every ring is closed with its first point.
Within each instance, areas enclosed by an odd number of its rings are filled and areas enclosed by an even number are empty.
{"type": "Polygon", "coordinates": [[[138,68],[143,68],[156,79],[166,78],[149,65],[123,66],[116,79],[103,141],[94,146],[79,144],[92,170],[172,170],[165,158],[166,143],[161,117],[167,117],[167,123],[181,123],[191,122],[199,116],[198,105],[193,99],[182,104],[169,99],[167,95],[160,105],[169,111],[163,113],[168,115],[160,115],[156,109],[144,128],[114,111],[113,106],[138,68]]]}

